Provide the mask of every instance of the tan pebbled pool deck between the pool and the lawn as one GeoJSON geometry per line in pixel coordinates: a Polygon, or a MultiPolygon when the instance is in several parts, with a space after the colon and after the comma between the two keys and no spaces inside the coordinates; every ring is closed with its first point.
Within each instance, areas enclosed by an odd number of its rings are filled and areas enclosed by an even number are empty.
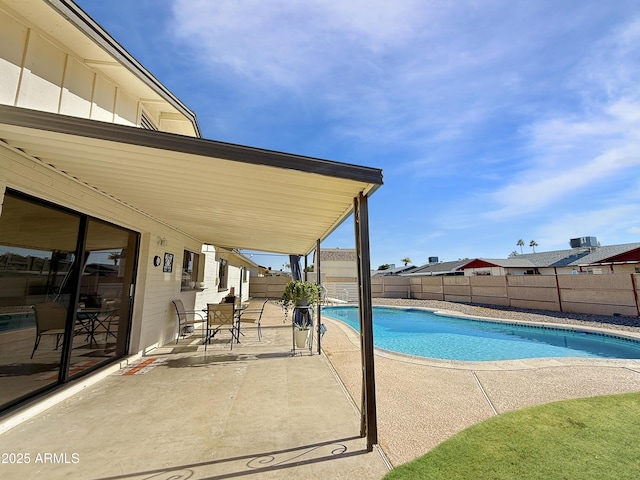
{"type": "MultiPolygon", "coordinates": [[[[345,324],[326,317],[323,322],[328,326],[325,354],[359,403],[358,336],[345,324]]],[[[640,391],[640,360],[455,362],[377,350],[375,373],[379,443],[394,466],[500,413],[559,400],[640,391]]]]}

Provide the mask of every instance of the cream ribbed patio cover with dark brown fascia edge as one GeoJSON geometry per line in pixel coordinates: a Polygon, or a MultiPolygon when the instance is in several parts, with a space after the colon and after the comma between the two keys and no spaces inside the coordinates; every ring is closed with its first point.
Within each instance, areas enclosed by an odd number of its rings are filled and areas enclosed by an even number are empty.
{"type": "Polygon", "coordinates": [[[351,214],[354,197],[382,185],[375,168],[2,105],[0,139],[225,248],[307,254],[351,214]]]}

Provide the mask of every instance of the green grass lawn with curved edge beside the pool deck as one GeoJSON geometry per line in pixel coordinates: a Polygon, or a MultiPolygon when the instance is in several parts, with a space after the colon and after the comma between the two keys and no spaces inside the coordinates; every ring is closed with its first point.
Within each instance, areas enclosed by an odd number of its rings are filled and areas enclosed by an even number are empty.
{"type": "Polygon", "coordinates": [[[640,393],[551,403],[460,432],[385,480],[640,478],[640,393]]]}

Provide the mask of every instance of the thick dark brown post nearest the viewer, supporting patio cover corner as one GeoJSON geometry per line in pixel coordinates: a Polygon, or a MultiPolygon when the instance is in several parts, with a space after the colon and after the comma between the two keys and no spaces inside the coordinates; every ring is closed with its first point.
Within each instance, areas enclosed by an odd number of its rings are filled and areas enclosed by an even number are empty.
{"type": "Polygon", "coordinates": [[[376,385],[373,364],[373,311],[371,302],[371,260],[369,256],[368,199],[360,194],[354,198],[353,217],[358,257],[358,306],[360,313],[360,344],[362,356],[362,407],[360,435],[367,437],[367,451],[378,443],[376,385]]]}

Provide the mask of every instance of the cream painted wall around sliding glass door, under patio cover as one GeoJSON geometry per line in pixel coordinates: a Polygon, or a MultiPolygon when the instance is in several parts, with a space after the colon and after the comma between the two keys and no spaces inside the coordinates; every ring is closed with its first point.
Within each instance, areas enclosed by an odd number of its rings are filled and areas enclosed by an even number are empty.
{"type": "Polygon", "coordinates": [[[181,291],[180,266],[185,249],[200,251],[198,242],[0,146],[0,201],[7,187],[140,233],[130,351],[144,351],[175,338],[176,315],[171,300],[181,298],[187,308],[194,305],[197,292],[181,291]],[[171,273],[164,273],[162,266],[153,266],[154,256],[163,257],[164,253],[174,255],[171,273]]]}

